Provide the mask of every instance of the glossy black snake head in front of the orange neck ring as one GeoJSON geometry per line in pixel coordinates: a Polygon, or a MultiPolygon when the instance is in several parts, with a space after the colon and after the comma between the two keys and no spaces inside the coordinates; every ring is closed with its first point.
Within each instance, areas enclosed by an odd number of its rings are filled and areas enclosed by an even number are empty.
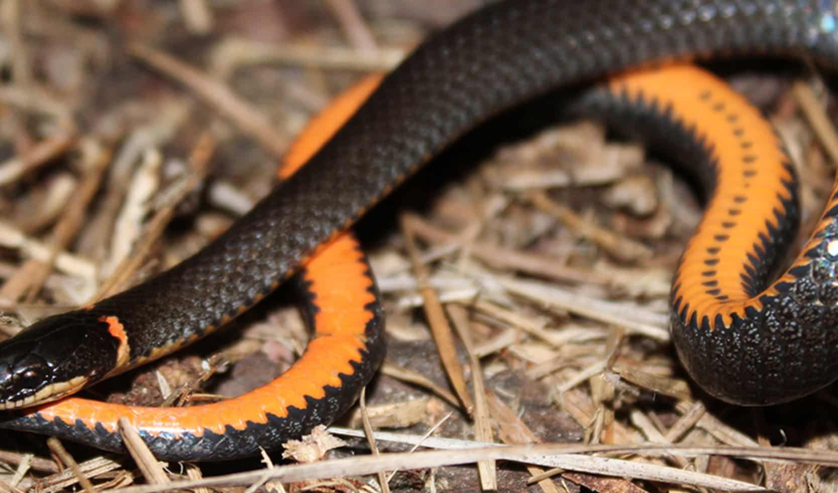
{"type": "Polygon", "coordinates": [[[120,344],[101,318],[71,311],[0,342],[0,409],[48,403],[111,372],[120,344]]]}

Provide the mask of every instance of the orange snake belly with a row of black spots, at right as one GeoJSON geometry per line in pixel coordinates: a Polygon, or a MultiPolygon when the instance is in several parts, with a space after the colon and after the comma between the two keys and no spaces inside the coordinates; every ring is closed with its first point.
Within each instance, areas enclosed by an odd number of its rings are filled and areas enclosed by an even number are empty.
{"type": "MultiPolygon", "coordinates": [[[[747,306],[762,308],[758,297],[742,287],[748,254],[766,224],[776,226],[773,211],[789,199],[784,182],[792,180],[786,156],[773,128],[742,95],[723,80],[690,65],[626,74],[611,82],[613,90],[631,99],[656,100],[672,116],[711,146],[717,163],[716,191],[707,204],[695,236],[687,244],[673,285],[675,298],[689,303],[701,321],[732,314],[747,306]]],[[[689,159],[689,157],[688,157],[689,159]]],[[[711,324],[712,325],[712,324],[711,324]]]]}

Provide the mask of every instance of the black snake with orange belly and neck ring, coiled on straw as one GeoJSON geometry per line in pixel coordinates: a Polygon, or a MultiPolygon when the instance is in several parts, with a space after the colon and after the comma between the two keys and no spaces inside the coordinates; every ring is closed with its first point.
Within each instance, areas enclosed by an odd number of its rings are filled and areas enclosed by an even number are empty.
{"type": "MultiPolygon", "coordinates": [[[[122,450],[115,429],[125,416],[160,459],[224,460],[331,421],[384,351],[375,284],[349,227],[481,122],[597,80],[603,85],[569,109],[638,131],[688,168],[708,197],[671,295],[672,338],[687,372],[716,398],[744,405],[823,388],[838,377],[838,190],[799,257],[768,284],[799,222],[778,137],[699,69],[635,69],[753,54],[831,67],[836,13],[835,0],[492,3],[428,39],[345,125],[335,117],[327,126],[336,133],[306,165],[198,254],[0,344],[0,406],[10,409],[0,426],[122,450]],[[204,336],[295,273],[315,336],[266,387],[163,410],[65,398],[204,336]]],[[[351,113],[375,84],[346,96],[335,115],[351,113]]]]}

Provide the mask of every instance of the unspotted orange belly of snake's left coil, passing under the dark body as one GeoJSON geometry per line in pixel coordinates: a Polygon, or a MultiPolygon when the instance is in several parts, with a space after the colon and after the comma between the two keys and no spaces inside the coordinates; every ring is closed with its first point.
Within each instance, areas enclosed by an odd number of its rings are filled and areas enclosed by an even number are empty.
{"type": "MultiPolygon", "coordinates": [[[[340,95],[316,116],[298,137],[279,170],[286,178],[328,141],[358,106],[366,100],[380,77],[369,77],[340,95]]],[[[366,275],[363,253],[352,234],[339,234],[308,260],[305,276],[319,311],[314,320],[314,337],[300,359],[280,377],[219,403],[189,408],[147,408],[101,403],[83,398],[65,398],[37,409],[44,419],[77,420],[94,428],[101,424],[116,431],[117,420],[125,417],[137,429],[150,434],[224,433],[226,426],[244,429],[248,422],[265,423],[266,413],[287,415],[287,408],[305,408],[305,396],[322,398],[325,386],[340,387],[340,373],[352,374],[350,362],[360,362],[365,348],[365,328],[372,314],[366,306],[375,300],[372,280],[366,275]]],[[[111,324],[116,327],[118,324],[111,324]]]]}

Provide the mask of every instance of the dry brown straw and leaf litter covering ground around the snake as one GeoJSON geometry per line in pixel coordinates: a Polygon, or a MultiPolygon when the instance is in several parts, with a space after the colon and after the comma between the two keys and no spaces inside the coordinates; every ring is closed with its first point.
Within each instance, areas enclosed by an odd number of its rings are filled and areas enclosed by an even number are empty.
{"type": "MultiPolygon", "coordinates": [[[[423,17],[403,0],[0,0],[4,333],[219,234],[267,192],[314,112],[473,1],[434,5],[423,17]]],[[[825,96],[779,75],[733,82],[763,101],[789,146],[811,224],[832,181],[822,149],[836,148],[817,116],[825,96]]],[[[348,448],[311,464],[274,467],[282,457],[271,454],[267,467],[162,468],[142,444],[100,456],[0,432],[0,490],[838,488],[832,393],[734,408],[685,377],[666,327],[672,269],[701,214],[684,182],[589,122],[541,127],[489,157],[462,149],[446,158],[457,176],[419,177],[397,208],[361,224],[390,352],[364,419],[332,429],[348,448]],[[416,193],[431,183],[434,193],[416,193]],[[362,421],[380,454],[367,454],[362,421]]],[[[197,392],[207,380],[213,393],[241,393],[303,350],[287,307],[237,325],[110,398],[199,402],[213,398],[197,392]]]]}

